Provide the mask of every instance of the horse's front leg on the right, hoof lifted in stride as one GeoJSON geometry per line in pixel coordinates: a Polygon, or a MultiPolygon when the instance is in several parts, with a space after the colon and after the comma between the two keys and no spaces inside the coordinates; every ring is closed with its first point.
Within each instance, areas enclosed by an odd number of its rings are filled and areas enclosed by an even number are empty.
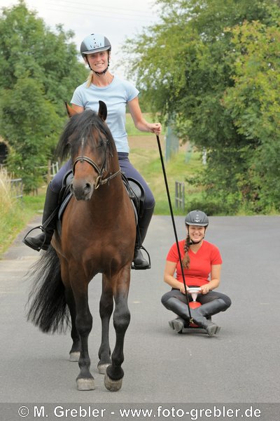
{"type": "Polygon", "coordinates": [[[130,288],[130,267],[125,267],[118,274],[116,288],[114,288],[115,311],[113,313],[113,326],[116,330],[116,345],[112,354],[112,364],[106,369],[104,384],[111,392],[117,392],[122,387],[124,361],[123,345],[125,332],[130,324],[130,310],[127,306],[128,291],[130,288]]]}

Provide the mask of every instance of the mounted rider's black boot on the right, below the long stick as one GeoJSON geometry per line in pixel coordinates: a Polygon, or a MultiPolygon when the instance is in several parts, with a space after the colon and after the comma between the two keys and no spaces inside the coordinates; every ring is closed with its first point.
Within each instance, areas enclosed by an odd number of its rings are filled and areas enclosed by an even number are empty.
{"type": "Polygon", "coordinates": [[[151,268],[150,263],[148,262],[148,260],[144,258],[144,255],[141,253],[141,246],[146,237],[148,226],[153,216],[154,208],[155,208],[155,205],[152,208],[145,209],[144,215],[141,218],[139,218],[138,229],[137,229],[137,239],[136,239],[135,248],[134,248],[134,258],[132,261],[132,269],[150,269],[151,268]]]}

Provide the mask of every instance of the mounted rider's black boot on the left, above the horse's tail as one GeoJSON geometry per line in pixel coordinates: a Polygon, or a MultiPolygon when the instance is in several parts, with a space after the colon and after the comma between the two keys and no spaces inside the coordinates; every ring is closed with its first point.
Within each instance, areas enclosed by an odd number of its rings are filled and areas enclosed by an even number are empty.
{"type": "MultiPolygon", "coordinates": [[[[52,213],[57,208],[58,199],[59,193],[53,192],[50,188],[50,185],[48,185],[47,192],[45,194],[45,206],[43,209],[43,224],[46,220],[48,220],[48,218],[50,218],[50,215],[52,215],[52,213]]],[[[50,220],[50,222],[48,222],[47,227],[45,227],[44,231],[41,234],[38,234],[34,237],[27,236],[22,241],[34,250],[48,250],[48,246],[50,246],[50,241],[52,239],[52,234],[56,227],[56,216],[57,215],[53,215],[53,218],[50,220]]]]}

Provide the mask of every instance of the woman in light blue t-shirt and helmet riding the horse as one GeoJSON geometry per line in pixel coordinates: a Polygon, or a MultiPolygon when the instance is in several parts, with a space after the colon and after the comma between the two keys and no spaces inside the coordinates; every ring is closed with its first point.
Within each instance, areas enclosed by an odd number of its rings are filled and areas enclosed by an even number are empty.
{"type": "MultiPolygon", "coordinates": [[[[153,210],[155,208],[155,199],[151,189],[148,187],[144,178],[132,166],[129,159],[130,147],[128,145],[127,133],[125,130],[125,112],[126,105],[130,109],[135,127],[139,131],[151,132],[157,135],[161,132],[160,123],[148,123],[139,107],[139,91],[130,82],[119,79],[109,72],[109,60],[111,56],[111,43],[106,36],[100,34],[91,34],[87,36],[80,45],[80,53],[85,63],[90,67],[90,74],[87,82],[76,88],[73,93],[71,103],[76,112],[83,112],[84,109],[94,109],[97,112],[99,100],[106,103],[108,107],[108,124],[113,139],[116,142],[120,168],[129,178],[137,180],[145,191],[144,212],[139,218],[139,238],[135,245],[134,257],[132,262],[133,269],[148,269],[149,262],[141,253],[141,245],[146,237],[148,226],[151,222],[153,210]]],[[[45,208],[43,210],[43,223],[48,220],[50,215],[57,208],[59,192],[62,187],[62,180],[67,171],[71,169],[71,162],[68,161],[55,178],[50,182],[47,189],[45,208]]],[[[55,229],[55,218],[48,224],[45,232],[36,237],[28,236],[24,239],[27,246],[34,250],[46,250],[52,239],[55,229]]]]}

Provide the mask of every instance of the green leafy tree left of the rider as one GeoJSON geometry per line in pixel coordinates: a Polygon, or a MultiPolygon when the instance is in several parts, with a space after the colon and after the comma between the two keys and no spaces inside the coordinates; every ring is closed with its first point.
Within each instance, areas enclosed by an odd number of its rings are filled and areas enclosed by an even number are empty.
{"type": "Polygon", "coordinates": [[[0,17],[0,133],[8,141],[8,168],[25,191],[38,187],[39,166],[52,158],[66,119],[64,101],[85,80],[73,32],[52,32],[20,0],[0,17]]]}

